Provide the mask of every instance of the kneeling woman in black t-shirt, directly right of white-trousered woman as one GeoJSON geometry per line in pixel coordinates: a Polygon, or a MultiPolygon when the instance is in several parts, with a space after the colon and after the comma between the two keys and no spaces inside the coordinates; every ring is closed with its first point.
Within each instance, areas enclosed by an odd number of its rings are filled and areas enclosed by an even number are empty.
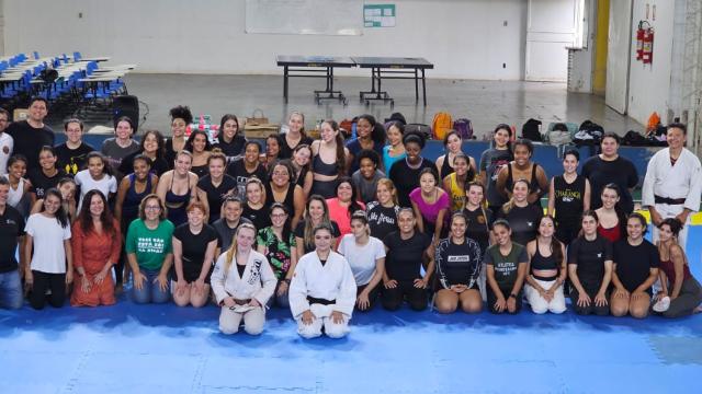
{"type": "Polygon", "coordinates": [[[598,217],[592,210],[582,213],[582,235],[568,245],[570,303],[575,313],[609,313],[607,291],[612,278],[612,243],[598,234],[598,217]]]}

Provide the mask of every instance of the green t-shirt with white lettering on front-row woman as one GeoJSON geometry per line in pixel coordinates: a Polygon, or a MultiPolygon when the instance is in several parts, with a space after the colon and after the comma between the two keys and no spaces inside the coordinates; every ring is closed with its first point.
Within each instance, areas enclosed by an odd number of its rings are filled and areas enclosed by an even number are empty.
{"type": "Polygon", "coordinates": [[[156,230],[150,230],[141,219],[136,219],[129,224],[124,248],[127,254],[136,254],[139,267],[161,269],[166,255],[173,253],[172,235],[173,223],[169,220],[162,220],[156,230]]]}

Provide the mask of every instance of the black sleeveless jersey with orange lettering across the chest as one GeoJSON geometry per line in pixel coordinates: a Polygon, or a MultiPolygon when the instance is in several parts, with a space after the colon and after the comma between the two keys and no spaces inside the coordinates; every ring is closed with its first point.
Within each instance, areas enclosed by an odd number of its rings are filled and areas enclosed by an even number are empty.
{"type": "Polygon", "coordinates": [[[580,227],[585,197],[585,176],[576,176],[567,183],[563,175],[553,178],[556,227],[577,229],[580,227]]]}

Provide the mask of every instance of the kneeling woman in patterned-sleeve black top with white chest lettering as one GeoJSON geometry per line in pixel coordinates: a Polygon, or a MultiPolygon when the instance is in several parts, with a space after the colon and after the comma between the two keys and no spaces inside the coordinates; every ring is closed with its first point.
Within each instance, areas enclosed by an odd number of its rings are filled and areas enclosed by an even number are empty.
{"type": "Polygon", "coordinates": [[[465,235],[467,220],[458,212],[451,217],[451,234],[437,246],[437,275],[441,289],[437,292],[437,310],[453,313],[458,303],[465,313],[483,309],[480,298],[480,246],[465,235]]]}

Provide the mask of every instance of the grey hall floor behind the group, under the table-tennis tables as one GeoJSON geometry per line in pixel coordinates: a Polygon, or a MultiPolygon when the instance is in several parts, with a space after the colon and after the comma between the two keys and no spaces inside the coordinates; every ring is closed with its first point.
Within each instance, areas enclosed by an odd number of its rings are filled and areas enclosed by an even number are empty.
{"type": "MultiPolygon", "coordinates": [[[[283,100],[283,78],[280,76],[132,73],[125,81],[129,94],[146,104],[140,108],[140,117],[146,115],[146,120],[139,121],[141,129],[156,128],[167,135],[170,134],[168,111],[179,104],[189,105],[195,116],[210,114],[214,121],[223,114],[246,117],[260,108],[271,121],[281,123],[291,111],[301,111],[306,115],[308,128],[319,119],[350,119],[364,113],[385,119],[394,112],[405,115],[408,123],[431,124],[437,112],[446,111],[454,118],[469,118],[478,138],[491,132],[500,123],[513,124],[521,129],[521,125],[532,117],[545,125],[550,121],[580,124],[591,119],[621,136],[631,129],[643,130],[635,120],[604,105],[603,97],[568,93],[563,83],[430,79],[427,80],[427,106],[423,106],[421,99],[419,103],[415,102],[411,81],[390,80],[383,82],[383,89],[395,99],[395,106],[390,108],[389,103],[365,106],[359,101],[358,92],[370,88],[370,78],[361,77],[335,80],[335,89],[342,90],[348,97],[346,106],[338,101],[315,103],[313,91],[324,89],[320,79],[291,78],[287,104],[283,100]]],[[[54,119],[52,126],[63,130],[61,120],[54,119]]]]}

